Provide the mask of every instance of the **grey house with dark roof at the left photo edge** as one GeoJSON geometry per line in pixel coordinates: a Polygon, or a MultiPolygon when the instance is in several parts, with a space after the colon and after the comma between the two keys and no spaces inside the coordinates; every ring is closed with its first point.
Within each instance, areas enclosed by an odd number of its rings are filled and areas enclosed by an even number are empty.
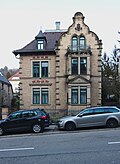
{"type": "MultiPolygon", "coordinates": [[[[13,98],[12,85],[0,72],[0,111],[3,107],[11,108],[13,98]]],[[[1,114],[1,113],[0,113],[1,114]]]]}

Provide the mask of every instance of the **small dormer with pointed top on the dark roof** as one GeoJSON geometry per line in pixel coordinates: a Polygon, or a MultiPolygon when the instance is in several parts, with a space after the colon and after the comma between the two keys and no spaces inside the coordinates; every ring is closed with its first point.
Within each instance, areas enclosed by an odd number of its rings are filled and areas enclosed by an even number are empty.
{"type": "Polygon", "coordinates": [[[37,49],[38,50],[45,50],[46,47],[46,37],[44,36],[44,33],[40,30],[39,34],[35,37],[37,41],[37,49]]]}

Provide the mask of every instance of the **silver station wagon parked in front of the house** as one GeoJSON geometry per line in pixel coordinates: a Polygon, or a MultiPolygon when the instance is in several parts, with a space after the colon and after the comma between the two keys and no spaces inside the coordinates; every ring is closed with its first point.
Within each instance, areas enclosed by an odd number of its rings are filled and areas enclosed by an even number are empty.
{"type": "Polygon", "coordinates": [[[68,131],[96,126],[115,128],[119,125],[120,109],[115,106],[85,108],[75,116],[66,116],[58,120],[58,128],[68,131]]]}

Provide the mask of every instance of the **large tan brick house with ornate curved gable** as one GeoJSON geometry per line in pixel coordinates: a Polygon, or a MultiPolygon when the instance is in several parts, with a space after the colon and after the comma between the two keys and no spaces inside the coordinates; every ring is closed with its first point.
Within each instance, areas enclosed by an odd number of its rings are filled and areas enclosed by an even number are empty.
{"type": "Polygon", "coordinates": [[[77,111],[101,105],[102,42],[77,12],[68,30],[42,31],[20,58],[20,108],[77,111]]]}

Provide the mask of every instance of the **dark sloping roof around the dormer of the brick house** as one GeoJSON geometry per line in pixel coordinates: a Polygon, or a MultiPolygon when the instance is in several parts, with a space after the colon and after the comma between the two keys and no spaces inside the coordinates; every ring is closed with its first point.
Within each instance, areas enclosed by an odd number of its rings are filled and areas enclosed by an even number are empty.
{"type": "Polygon", "coordinates": [[[56,42],[59,40],[60,36],[63,34],[63,31],[56,31],[56,32],[39,32],[39,34],[35,37],[34,40],[32,40],[29,44],[27,44],[25,47],[19,50],[13,51],[15,55],[22,54],[22,53],[30,53],[30,52],[55,52],[55,45],[56,42]],[[44,50],[38,50],[37,49],[37,39],[39,38],[45,38],[46,40],[46,46],[44,50]]]}

